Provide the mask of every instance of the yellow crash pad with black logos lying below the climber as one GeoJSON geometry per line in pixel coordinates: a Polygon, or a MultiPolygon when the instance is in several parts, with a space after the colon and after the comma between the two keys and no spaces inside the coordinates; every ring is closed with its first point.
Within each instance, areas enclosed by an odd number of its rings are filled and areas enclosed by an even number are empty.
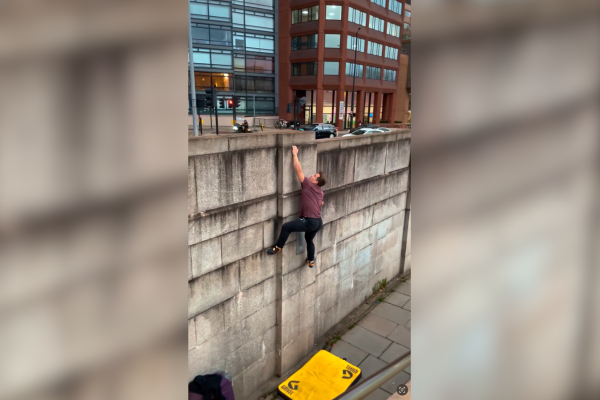
{"type": "Polygon", "coordinates": [[[289,400],[333,400],[360,374],[360,368],[321,350],[279,385],[279,394],[289,400]]]}

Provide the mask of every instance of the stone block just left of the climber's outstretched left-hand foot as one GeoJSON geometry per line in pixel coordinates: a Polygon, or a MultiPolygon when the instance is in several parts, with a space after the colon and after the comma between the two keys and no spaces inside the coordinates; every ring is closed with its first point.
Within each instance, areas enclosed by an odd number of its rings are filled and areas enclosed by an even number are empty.
{"type": "Polygon", "coordinates": [[[264,226],[262,223],[238,229],[221,237],[224,264],[240,260],[263,249],[264,226]]]}

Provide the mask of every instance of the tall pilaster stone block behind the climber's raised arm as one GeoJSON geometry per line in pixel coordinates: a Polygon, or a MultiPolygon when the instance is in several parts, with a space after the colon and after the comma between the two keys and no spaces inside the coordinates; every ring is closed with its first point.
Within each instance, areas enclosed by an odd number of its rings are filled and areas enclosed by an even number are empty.
{"type": "MultiPolygon", "coordinates": [[[[298,176],[294,171],[294,164],[292,160],[292,149],[291,148],[280,148],[278,149],[279,157],[281,160],[279,172],[281,176],[281,186],[279,190],[280,194],[287,194],[299,191],[302,189],[298,176]]],[[[302,172],[304,176],[311,176],[317,172],[317,146],[299,146],[298,147],[298,160],[302,166],[302,172]]],[[[279,169],[278,168],[278,169],[279,169]]],[[[264,179],[261,177],[261,180],[264,179]]],[[[274,181],[275,182],[275,181],[274,181]]]]}

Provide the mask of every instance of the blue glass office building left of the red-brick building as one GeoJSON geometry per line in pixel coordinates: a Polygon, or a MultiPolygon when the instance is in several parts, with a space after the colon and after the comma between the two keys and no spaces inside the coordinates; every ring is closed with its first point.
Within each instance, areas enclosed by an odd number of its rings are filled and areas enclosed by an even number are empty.
{"type": "Polygon", "coordinates": [[[276,115],[274,0],[190,1],[190,13],[197,95],[216,86],[219,115],[233,113],[227,100],[234,94],[238,117],[276,115]]]}

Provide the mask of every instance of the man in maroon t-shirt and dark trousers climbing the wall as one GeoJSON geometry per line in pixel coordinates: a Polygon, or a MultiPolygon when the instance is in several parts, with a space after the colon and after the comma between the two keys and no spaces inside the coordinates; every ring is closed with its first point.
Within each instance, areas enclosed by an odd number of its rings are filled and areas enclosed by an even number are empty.
{"type": "Polygon", "coordinates": [[[267,253],[273,255],[281,252],[290,233],[305,232],[306,251],[308,253],[306,263],[312,268],[315,266],[315,244],[313,243],[313,239],[321,227],[323,227],[321,207],[323,207],[324,203],[321,187],[325,185],[325,177],[323,176],[323,172],[318,172],[308,177],[304,176],[302,166],[298,160],[298,148],[296,146],[292,147],[292,156],[294,171],[296,171],[296,175],[302,186],[300,219],[283,224],[277,244],[268,249],[267,253]]]}

